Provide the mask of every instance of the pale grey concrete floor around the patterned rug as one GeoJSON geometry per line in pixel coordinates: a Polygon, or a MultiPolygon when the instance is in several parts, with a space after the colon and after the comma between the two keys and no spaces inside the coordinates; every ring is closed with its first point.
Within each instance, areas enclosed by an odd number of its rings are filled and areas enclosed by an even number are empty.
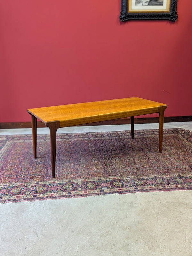
{"type": "MultiPolygon", "coordinates": [[[[192,122],[164,128],[192,131],[192,122]]],[[[135,129],[158,124],[135,125],[135,129]]],[[[130,129],[129,125],[61,132],[130,129]]],[[[31,129],[0,130],[26,134],[31,129]]],[[[49,133],[39,128],[38,133],[49,133]]],[[[192,256],[192,190],[145,192],[0,204],[0,255],[192,256]]]]}

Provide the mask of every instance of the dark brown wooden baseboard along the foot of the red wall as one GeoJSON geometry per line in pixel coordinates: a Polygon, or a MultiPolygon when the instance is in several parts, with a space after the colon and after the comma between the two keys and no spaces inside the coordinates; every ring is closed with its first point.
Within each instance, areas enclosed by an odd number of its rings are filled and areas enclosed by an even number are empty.
{"type": "MultiPolygon", "coordinates": [[[[152,124],[158,123],[158,117],[147,117],[147,118],[134,118],[135,124],[152,124]]],[[[177,117],[164,117],[165,123],[172,122],[192,122],[192,116],[177,116],[177,117]]],[[[108,121],[101,121],[96,123],[83,124],[79,126],[94,126],[94,125],[118,125],[118,124],[130,124],[130,118],[121,118],[108,121]]],[[[45,127],[44,123],[39,121],[37,122],[37,127],[45,127]]],[[[31,128],[31,122],[8,122],[0,123],[0,129],[15,129],[15,128],[31,128]]]]}

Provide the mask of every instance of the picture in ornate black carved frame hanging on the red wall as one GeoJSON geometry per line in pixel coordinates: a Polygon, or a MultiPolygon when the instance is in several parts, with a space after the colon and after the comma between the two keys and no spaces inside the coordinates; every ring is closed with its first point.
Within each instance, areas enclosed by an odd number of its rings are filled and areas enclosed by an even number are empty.
{"type": "Polygon", "coordinates": [[[177,0],[121,0],[121,21],[170,20],[176,21],[177,0]]]}

